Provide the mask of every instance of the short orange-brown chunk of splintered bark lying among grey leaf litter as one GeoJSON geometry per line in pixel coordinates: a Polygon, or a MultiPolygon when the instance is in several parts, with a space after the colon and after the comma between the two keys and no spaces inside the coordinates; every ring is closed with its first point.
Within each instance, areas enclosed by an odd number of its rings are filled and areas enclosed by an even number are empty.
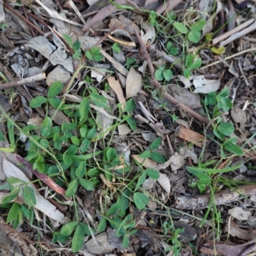
{"type": "Polygon", "coordinates": [[[198,147],[203,147],[205,143],[205,138],[202,134],[194,132],[182,125],[179,125],[175,130],[175,135],[180,139],[194,143],[198,147]]]}

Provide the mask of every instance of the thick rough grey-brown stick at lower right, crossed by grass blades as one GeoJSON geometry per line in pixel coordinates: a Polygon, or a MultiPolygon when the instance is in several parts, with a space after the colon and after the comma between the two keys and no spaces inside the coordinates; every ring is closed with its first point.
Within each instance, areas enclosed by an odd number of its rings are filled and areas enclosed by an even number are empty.
{"type": "MultiPolygon", "coordinates": [[[[216,193],[214,195],[214,204],[229,204],[230,202],[241,200],[241,198],[246,196],[252,196],[256,194],[255,185],[243,185],[234,189],[228,188],[220,191],[219,193],[216,193]],[[234,189],[236,189],[236,191],[234,189]]],[[[201,210],[209,206],[210,199],[211,194],[198,196],[177,196],[175,204],[177,209],[201,210]]]]}

